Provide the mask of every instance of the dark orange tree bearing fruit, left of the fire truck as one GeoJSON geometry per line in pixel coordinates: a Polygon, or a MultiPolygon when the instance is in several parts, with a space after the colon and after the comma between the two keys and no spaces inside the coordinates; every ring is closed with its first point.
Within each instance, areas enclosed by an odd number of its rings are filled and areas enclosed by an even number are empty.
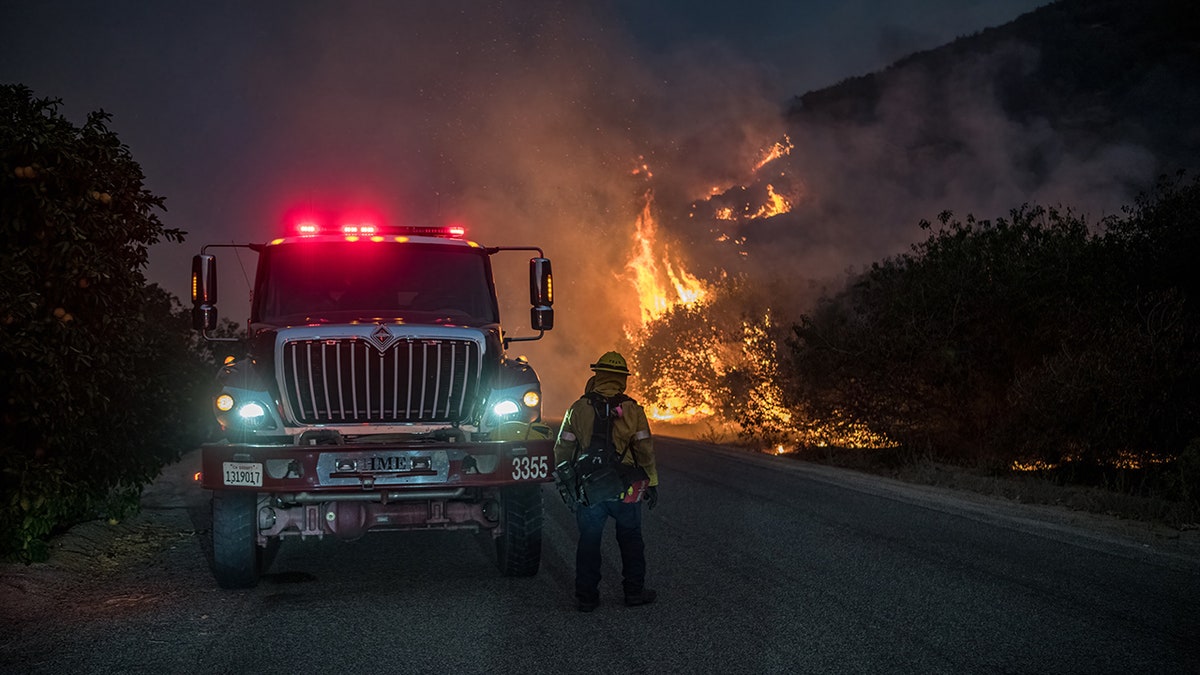
{"type": "Polygon", "coordinates": [[[37,560],[55,530],[121,516],[202,429],[203,358],[186,312],[143,275],[182,241],[95,112],[0,86],[0,554],[37,560]]]}

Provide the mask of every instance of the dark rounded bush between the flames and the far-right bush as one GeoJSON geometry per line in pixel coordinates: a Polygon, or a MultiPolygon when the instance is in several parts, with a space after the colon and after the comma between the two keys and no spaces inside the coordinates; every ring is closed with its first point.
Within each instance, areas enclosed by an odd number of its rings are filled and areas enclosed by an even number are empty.
{"type": "Polygon", "coordinates": [[[1087,283],[1074,271],[1086,226],[1031,208],[941,225],[796,327],[791,392],[818,417],[847,414],[906,446],[972,446],[1014,369],[1048,352],[1036,327],[1069,313],[1061,293],[1087,283]]]}

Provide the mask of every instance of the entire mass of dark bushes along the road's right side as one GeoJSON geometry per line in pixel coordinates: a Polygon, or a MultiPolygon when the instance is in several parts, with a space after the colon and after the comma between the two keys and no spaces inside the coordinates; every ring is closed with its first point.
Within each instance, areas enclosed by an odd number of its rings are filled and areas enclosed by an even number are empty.
{"type": "Polygon", "coordinates": [[[1176,458],[1200,435],[1198,205],[1200,181],[1168,181],[1097,232],[1054,209],[942,214],[793,327],[785,388],[965,462],[1176,458]]]}

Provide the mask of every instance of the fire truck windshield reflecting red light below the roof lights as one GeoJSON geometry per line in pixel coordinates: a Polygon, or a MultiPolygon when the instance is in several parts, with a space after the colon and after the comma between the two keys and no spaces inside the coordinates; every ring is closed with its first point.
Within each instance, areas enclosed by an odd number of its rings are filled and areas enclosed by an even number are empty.
{"type": "Polygon", "coordinates": [[[407,243],[269,246],[259,261],[254,311],[274,324],[400,319],[497,323],[487,255],[407,243]]]}

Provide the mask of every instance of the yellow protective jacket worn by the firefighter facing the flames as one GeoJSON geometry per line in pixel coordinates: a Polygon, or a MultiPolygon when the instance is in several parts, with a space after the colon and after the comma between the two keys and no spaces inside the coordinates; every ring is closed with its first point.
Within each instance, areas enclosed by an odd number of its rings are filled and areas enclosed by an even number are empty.
{"type": "MultiPolygon", "coordinates": [[[[595,392],[602,396],[616,396],[625,393],[626,376],[616,372],[599,371],[588,380],[583,393],[595,392]]],[[[659,484],[659,471],[654,464],[654,438],[650,437],[650,423],[646,411],[637,401],[620,404],[620,416],[612,425],[613,444],[617,454],[625,453],[624,464],[641,465],[650,478],[650,485],[659,484]]],[[[563,426],[558,430],[554,442],[554,465],[577,458],[592,442],[592,426],[595,424],[595,411],[586,396],[571,404],[563,416],[563,426]]]]}

